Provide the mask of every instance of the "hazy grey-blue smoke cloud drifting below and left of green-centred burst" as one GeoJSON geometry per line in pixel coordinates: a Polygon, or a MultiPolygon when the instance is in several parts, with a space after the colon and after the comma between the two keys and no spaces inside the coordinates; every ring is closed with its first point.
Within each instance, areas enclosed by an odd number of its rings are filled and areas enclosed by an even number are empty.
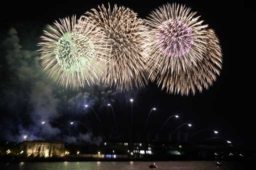
{"type": "MultiPolygon", "coordinates": [[[[36,42],[31,42],[31,45],[35,44],[36,42]]],[[[57,87],[46,78],[40,67],[36,46],[34,50],[23,49],[14,28],[9,30],[2,41],[1,49],[2,140],[20,142],[27,135],[27,140],[50,139],[93,144],[101,142],[99,133],[95,132],[100,131],[98,122],[93,114],[88,114],[91,110],[84,105],[90,105],[100,112],[107,103],[113,103],[121,96],[121,93],[99,84],[76,92],[57,87]],[[82,129],[79,125],[71,127],[71,120],[85,122],[90,128],[82,129]]]]}

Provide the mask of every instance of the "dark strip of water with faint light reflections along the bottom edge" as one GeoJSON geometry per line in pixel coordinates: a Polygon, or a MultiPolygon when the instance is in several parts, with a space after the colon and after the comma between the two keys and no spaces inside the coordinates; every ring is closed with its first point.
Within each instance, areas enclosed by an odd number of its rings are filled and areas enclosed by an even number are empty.
{"type": "MultiPolygon", "coordinates": [[[[242,164],[221,162],[217,168],[214,161],[156,162],[157,170],[246,170],[242,164]]],[[[0,163],[0,170],[150,170],[150,162],[38,162],[0,163]]]]}

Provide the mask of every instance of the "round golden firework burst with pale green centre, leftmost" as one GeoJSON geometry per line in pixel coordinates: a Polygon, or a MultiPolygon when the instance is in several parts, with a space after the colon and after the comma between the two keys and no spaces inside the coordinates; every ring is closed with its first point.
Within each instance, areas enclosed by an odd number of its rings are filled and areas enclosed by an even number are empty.
{"type": "Polygon", "coordinates": [[[109,50],[104,33],[90,21],[75,16],[48,25],[38,43],[42,67],[58,85],[77,89],[90,85],[102,74],[109,50]],[[96,67],[95,67],[96,66],[96,67]]]}

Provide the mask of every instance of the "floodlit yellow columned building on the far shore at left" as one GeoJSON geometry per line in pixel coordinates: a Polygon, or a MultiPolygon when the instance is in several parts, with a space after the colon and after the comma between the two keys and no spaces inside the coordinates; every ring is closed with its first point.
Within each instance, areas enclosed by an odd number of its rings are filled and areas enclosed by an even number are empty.
{"type": "Polygon", "coordinates": [[[19,144],[24,156],[60,157],[64,156],[64,142],[59,141],[24,141],[19,144]]]}

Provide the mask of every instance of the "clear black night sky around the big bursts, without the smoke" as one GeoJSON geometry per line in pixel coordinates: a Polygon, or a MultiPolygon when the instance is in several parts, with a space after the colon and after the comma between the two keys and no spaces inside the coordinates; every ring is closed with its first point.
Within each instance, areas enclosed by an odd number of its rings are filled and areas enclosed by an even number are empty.
{"type": "MultiPolygon", "coordinates": [[[[174,1],[110,1],[111,4],[117,3],[130,7],[142,18],[166,2],[174,1]]],[[[156,85],[150,84],[147,89],[137,94],[134,102],[134,127],[141,127],[141,122],[144,122],[148,113],[147,110],[156,107],[157,112],[153,113],[149,120],[151,131],[154,131],[154,127],[159,127],[169,115],[179,114],[181,120],[173,127],[183,122],[190,122],[193,124],[191,131],[213,128],[220,132],[221,137],[234,144],[254,144],[256,142],[252,139],[254,112],[250,110],[248,101],[253,100],[254,76],[248,76],[251,71],[250,64],[247,63],[252,62],[251,58],[254,58],[251,52],[254,44],[252,36],[255,36],[251,21],[251,5],[245,2],[232,4],[233,2],[227,3],[223,0],[176,0],[176,2],[186,4],[192,8],[192,11],[197,11],[201,19],[215,30],[222,48],[223,69],[209,90],[201,94],[197,93],[195,96],[168,95],[161,92],[156,85]],[[245,94],[250,93],[251,99],[245,97],[245,94]]],[[[21,41],[25,41],[26,38],[30,38],[29,35],[26,36],[26,32],[35,32],[39,35],[42,27],[55,19],[72,14],[80,16],[101,3],[107,4],[107,1],[7,2],[1,5],[0,10],[2,16],[0,38],[4,37],[8,29],[13,26],[20,32],[21,41]]],[[[119,124],[125,122],[122,114],[124,113],[121,111],[116,113],[119,124]]],[[[2,115],[1,118],[4,116],[2,115]]]]}

